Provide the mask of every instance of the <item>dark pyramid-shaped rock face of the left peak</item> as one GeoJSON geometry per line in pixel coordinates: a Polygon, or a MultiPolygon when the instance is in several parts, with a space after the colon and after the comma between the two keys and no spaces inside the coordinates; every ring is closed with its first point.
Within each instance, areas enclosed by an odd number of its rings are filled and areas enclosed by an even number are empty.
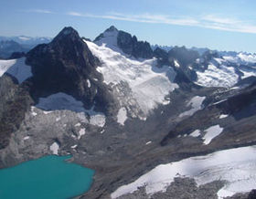
{"type": "Polygon", "coordinates": [[[27,53],[27,65],[32,68],[32,96],[48,96],[65,92],[83,101],[86,108],[99,102],[107,107],[107,89],[96,71],[100,62],[95,58],[78,32],[65,27],[49,44],[38,45],[27,53]],[[88,82],[91,82],[89,85],[88,82]]]}

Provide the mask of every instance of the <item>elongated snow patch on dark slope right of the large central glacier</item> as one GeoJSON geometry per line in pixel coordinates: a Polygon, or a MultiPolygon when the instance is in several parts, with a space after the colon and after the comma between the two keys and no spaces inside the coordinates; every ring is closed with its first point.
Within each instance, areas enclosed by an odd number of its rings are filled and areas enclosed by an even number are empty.
{"type": "Polygon", "coordinates": [[[201,110],[203,109],[203,101],[206,99],[206,97],[200,97],[200,96],[196,96],[193,97],[192,99],[190,99],[187,102],[187,107],[191,107],[190,110],[187,110],[185,112],[182,112],[181,114],[179,114],[178,117],[182,118],[184,116],[191,116],[193,115],[195,112],[197,112],[197,110],[201,110]]]}

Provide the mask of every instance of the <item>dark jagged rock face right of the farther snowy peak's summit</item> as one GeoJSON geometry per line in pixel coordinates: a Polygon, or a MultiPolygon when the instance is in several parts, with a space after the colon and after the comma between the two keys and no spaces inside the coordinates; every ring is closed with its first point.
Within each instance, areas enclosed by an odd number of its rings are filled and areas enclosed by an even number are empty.
{"type": "Polygon", "coordinates": [[[137,37],[129,33],[119,31],[117,45],[124,53],[132,55],[134,58],[153,58],[153,50],[146,41],[138,41],[137,37]]]}

